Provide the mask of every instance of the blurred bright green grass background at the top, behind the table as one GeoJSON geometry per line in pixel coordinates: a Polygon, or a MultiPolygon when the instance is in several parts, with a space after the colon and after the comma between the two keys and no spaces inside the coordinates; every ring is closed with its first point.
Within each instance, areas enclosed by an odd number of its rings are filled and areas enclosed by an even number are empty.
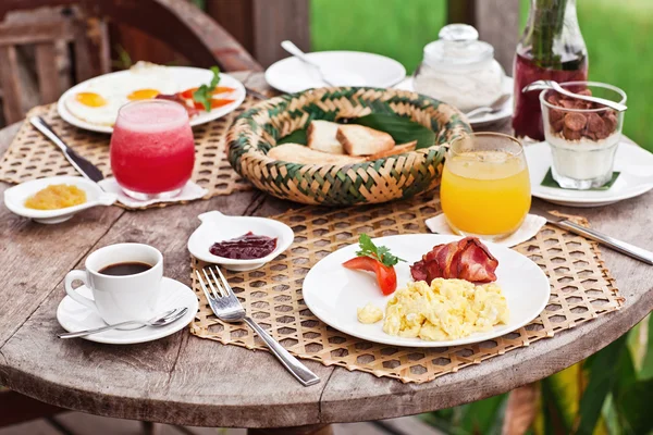
{"type": "MultiPolygon", "coordinates": [[[[522,22],[530,1],[521,0],[522,22]]],[[[577,0],[590,78],[628,94],[624,132],[653,151],[653,0],[577,0]]],[[[312,49],[385,54],[411,73],[446,21],[445,0],[311,0],[312,49]]],[[[509,73],[509,72],[508,72],[509,73]]]]}

